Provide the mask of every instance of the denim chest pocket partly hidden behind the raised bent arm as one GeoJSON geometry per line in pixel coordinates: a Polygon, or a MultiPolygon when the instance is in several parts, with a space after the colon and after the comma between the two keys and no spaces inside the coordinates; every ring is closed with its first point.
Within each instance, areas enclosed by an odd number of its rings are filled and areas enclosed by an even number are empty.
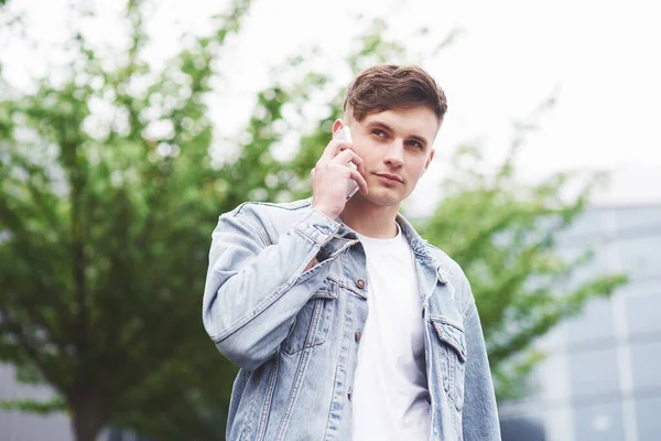
{"type": "Polygon", "coordinates": [[[292,329],[280,345],[280,349],[289,355],[305,348],[322,345],[326,342],[333,311],[337,301],[337,286],[325,279],[294,319],[292,329]]]}

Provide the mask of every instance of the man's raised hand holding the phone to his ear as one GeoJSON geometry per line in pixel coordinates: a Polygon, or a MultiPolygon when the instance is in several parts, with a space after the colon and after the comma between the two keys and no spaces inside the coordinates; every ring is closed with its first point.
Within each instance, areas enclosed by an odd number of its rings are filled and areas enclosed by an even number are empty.
{"type": "Polygon", "coordinates": [[[310,172],[312,176],[312,205],[335,219],[347,203],[347,184],[349,179],[356,181],[361,194],[367,194],[367,182],[362,175],[362,160],[351,150],[351,143],[333,140],[326,146],[324,154],[310,172]],[[347,164],[353,162],[358,170],[347,164]]]}

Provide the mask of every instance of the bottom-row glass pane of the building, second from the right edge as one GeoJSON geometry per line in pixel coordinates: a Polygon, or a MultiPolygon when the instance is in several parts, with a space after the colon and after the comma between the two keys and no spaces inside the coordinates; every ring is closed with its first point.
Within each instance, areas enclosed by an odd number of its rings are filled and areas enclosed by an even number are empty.
{"type": "Polygon", "coordinates": [[[622,441],[622,407],[619,401],[574,408],[576,441],[622,441]]]}

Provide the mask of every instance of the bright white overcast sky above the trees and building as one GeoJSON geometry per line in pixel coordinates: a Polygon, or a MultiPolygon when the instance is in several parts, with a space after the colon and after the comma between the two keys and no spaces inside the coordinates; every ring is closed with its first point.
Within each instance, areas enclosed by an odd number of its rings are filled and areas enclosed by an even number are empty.
{"type": "MultiPolygon", "coordinates": [[[[35,51],[0,30],[0,60],[19,88],[30,77],[62,62],[56,45],[66,39],[63,0],[10,0],[10,13],[24,12],[35,51]]],[[[90,39],[117,44],[121,2],[97,2],[99,19],[87,25],[90,39]],[[117,4],[120,3],[120,4],[117,4]]],[[[182,30],[201,32],[225,1],[156,1],[150,32],[158,65],[177,47],[182,30]]],[[[478,141],[487,164],[499,161],[512,122],[555,94],[556,105],[541,119],[520,159],[522,174],[537,179],[567,169],[614,171],[614,185],[600,203],[661,202],[661,7],[654,0],[555,0],[553,2],[311,0],[256,1],[241,37],[224,60],[231,89],[214,119],[228,132],[240,127],[254,90],[269,84],[270,68],[303,47],[318,44],[327,68],[339,64],[361,31],[357,13],[384,18],[391,34],[415,50],[411,34],[430,28],[423,42],[441,41],[453,29],[456,41],[426,67],[445,89],[449,111],[436,142],[437,160],[416,192],[434,189],[444,158],[460,142],[478,141]],[[359,3],[354,4],[354,3],[359,3]]],[[[423,45],[424,45],[423,44],[423,45]]],[[[487,165],[488,166],[488,165],[487,165]]],[[[416,205],[418,205],[416,204],[416,205]]]]}

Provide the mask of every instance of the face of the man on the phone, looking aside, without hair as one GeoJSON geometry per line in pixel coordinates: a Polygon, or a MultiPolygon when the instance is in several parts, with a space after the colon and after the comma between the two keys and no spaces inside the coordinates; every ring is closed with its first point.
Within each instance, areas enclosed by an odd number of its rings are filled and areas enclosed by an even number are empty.
{"type": "MultiPolygon", "coordinates": [[[[347,109],[353,115],[353,109],[347,109]]],[[[354,151],[362,159],[369,194],[365,197],[381,206],[404,201],[434,157],[432,143],[440,121],[427,107],[391,109],[370,114],[361,121],[345,120],[351,129],[354,151]]],[[[336,121],[333,131],[342,129],[336,121]]]]}

